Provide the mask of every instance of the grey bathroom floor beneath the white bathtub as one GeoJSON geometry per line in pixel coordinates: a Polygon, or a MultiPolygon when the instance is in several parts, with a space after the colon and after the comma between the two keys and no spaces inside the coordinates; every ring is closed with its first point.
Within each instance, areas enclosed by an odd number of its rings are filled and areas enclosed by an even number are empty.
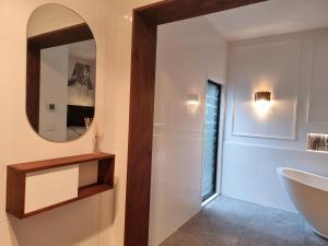
{"type": "Polygon", "coordinates": [[[161,246],[328,246],[296,213],[219,197],[161,246]]]}

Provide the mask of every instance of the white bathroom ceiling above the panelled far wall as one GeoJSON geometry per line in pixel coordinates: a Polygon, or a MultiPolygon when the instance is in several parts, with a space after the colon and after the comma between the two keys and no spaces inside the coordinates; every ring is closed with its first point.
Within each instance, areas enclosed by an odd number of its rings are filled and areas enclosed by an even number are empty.
{"type": "Polygon", "coordinates": [[[328,0],[270,0],[206,19],[227,40],[328,27],[328,0]]]}

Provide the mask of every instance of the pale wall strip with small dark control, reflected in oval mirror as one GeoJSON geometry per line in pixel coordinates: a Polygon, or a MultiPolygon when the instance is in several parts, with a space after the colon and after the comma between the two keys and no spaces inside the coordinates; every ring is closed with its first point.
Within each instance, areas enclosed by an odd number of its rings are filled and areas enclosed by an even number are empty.
{"type": "Polygon", "coordinates": [[[67,140],[68,67],[68,46],[42,50],[39,134],[59,142],[67,140]],[[49,104],[55,104],[55,110],[48,109],[49,104]]]}

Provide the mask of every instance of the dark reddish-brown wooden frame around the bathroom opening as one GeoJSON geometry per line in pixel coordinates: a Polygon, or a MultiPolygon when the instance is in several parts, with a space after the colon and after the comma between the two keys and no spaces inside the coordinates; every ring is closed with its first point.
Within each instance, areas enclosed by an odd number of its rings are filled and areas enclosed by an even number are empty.
{"type": "Polygon", "coordinates": [[[133,10],[125,246],[148,246],[157,26],[267,0],[165,0],[133,10]]]}

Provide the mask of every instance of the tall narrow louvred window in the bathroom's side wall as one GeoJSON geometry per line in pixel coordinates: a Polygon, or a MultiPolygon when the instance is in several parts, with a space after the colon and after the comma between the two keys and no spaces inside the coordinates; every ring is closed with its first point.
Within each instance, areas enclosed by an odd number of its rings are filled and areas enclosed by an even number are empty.
{"type": "Polygon", "coordinates": [[[202,202],[216,194],[220,106],[221,85],[208,80],[201,177],[202,202]]]}

